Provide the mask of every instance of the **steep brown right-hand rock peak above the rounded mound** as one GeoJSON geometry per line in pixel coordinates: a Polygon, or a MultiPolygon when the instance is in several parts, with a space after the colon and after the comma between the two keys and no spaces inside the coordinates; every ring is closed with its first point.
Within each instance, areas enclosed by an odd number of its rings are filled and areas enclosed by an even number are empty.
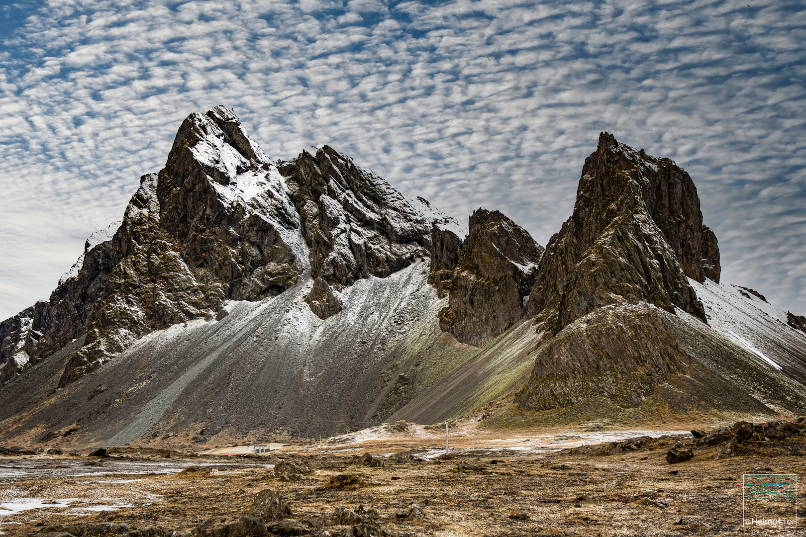
{"type": "Polygon", "coordinates": [[[557,333],[608,304],[645,300],[705,320],[687,275],[718,275],[716,238],[702,225],[688,174],[669,159],[602,133],[585,159],[574,213],[546,246],[526,306],[557,333]]]}

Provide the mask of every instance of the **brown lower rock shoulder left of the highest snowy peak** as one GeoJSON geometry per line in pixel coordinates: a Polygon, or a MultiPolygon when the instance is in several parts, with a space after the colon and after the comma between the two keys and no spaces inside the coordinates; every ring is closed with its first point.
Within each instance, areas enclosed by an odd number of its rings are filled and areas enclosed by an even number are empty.
{"type": "Polygon", "coordinates": [[[51,295],[38,356],[84,338],[66,359],[60,386],[154,329],[211,318],[225,298],[222,283],[193,270],[181,243],[160,225],[157,186],[156,175],[143,176],[114,238],[86,253],[78,275],[51,295]]]}

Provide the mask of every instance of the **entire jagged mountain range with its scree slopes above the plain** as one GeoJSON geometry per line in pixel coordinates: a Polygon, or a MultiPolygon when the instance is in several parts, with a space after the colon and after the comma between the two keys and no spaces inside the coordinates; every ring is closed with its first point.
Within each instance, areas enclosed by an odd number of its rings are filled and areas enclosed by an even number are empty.
{"type": "Polygon", "coordinates": [[[465,225],[332,147],[272,160],[217,106],[182,122],[50,298],[0,323],[0,441],[769,420],[804,411],[804,327],[720,282],[692,178],[612,134],[544,249],[499,211],[465,225]]]}

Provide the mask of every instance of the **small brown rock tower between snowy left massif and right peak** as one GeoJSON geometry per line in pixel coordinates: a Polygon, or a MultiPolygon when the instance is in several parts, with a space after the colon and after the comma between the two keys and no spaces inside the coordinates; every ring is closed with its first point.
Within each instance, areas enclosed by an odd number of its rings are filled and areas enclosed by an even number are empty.
{"type": "Polygon", "coordinates": [[[523,299],[537,276],[542,246],[498,211],[479,209],[455,266],[439,328],[484,345],[523,317],[523,299]]]}

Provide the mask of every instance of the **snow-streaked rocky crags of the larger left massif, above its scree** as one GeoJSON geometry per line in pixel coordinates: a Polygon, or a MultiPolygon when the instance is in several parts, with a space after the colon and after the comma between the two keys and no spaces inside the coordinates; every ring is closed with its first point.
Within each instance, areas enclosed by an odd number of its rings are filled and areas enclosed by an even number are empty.
{"type": "Polygon", "coordinates": [[[10,320],[7,350],[22,345],[35,364],[70,347],[66,386],[153,330],[212,320],[229,300],[264,300],[309,278],[327,279],[310,298],[324,318],[339,303],[327,283],[422,260],[432,223],[453,221],[331,147],[280,165],[296,171],[284,177],[234,110],[189,114],[123,221],[93,234],[49,302],[10,320]]]}

